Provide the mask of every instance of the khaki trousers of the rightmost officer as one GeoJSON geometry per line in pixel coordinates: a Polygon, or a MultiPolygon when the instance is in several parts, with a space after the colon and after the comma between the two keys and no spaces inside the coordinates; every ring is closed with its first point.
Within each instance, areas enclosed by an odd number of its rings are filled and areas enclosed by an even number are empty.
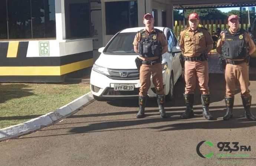
{"type": "Polygon", "coordinates": [[[239,81],[241,96],[249,97],[249,66],[246,62],[239,65],[227,64],[225,70],[226,97],[234,97],[236,82],[239,81]]]}

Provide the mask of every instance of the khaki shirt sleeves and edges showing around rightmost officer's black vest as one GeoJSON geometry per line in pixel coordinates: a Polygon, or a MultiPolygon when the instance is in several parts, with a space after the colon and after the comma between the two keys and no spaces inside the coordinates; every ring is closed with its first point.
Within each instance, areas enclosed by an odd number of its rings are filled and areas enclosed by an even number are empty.
{"type": "MultiPolygon", "coordinates": [[[[239,30],[238,30],[239,31],[239,30]]],[[[231,34],[234,34],[234,32],[232,32],[229,28],[229,32],[231,34]]],[[[249,52],[255,48],[255,44],[252,40],[252,38],[250,37],[249,33],[248,32],[245,32],[244,33],[244,39],[245,39],[245,42],[248,44],[249,46],[249,52]]],[[[223,42],[225,41],[225,33],[224,32],[221,32],[220,34],[220,38],[218,39],[218,42],[217,42],[217,45],[216,45],[216,51],[219,53],[219,54],[222,54],[221,52],[221,46],[223,44],[223,42]]],[[[240,61],[240,60],[243,60],[243,59],[232,59],[233,61],[240,61]]]]}

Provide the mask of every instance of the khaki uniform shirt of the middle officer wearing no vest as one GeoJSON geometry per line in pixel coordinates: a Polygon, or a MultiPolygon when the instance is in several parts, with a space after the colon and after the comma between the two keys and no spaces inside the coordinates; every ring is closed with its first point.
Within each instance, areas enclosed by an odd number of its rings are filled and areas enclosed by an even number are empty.
{"type": "Polygon", "coordinates": [[[184,49],[184,56],[197,57],[205,52],[208,45],[213,44],[213,39],[210,33],[205,28],[200,28],[196,31],[190,27],[180,32],[179,45],[184,49]]]}

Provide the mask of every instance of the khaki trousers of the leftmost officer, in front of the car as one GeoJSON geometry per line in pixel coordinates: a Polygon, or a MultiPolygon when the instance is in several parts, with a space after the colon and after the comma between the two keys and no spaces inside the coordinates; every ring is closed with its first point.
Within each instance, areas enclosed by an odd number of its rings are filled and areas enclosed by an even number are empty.
{"type": "Polygon", "coordinates": [[[147,96],[148,89],[150,88],[151,81],[150,77],[152,75],[152,82],[155,86],[157,95],[164,94],[164,83],[163,83],[163,73],[162,73],[162,63],[157,63],[155,65],[141,65],[140,68],[140,93],[139,96],[147,96]]]}

